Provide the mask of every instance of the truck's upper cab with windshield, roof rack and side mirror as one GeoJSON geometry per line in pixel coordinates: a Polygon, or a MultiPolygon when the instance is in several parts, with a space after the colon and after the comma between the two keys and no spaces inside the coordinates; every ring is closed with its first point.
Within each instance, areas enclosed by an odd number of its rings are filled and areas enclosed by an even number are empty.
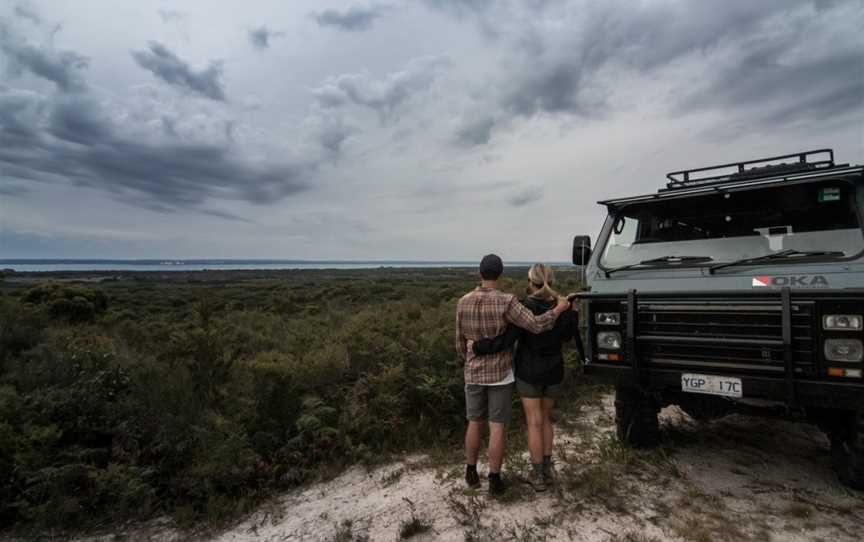
{"type": "MultiPolygon", "coordinates": [[[[610,278],[667,266],[713,273],[749,260],[789,265],[857,259],[864,253],[861,168],[835,165],[830,150],[789,156],[800,162],[752,169],[744,162],[732,165],[735,173],[709,177],[694,172],[730,165],[673,172],[656,194],[600,202],[609,213],[594,263],[610,278]],[[818,153],[830,158],[807,161],[818,153]]],[[[754,162],[778,158],[788,156],[754,162]]],[[[587,261],[589,244],[576,238],[574,263],[587,261]]]]}

